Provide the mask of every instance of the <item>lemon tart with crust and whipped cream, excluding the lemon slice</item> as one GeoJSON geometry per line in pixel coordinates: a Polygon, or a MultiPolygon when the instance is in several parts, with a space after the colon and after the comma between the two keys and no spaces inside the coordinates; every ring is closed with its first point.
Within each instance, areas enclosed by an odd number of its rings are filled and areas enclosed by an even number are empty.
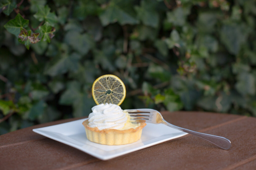
{"type": "Polygon", "coordinates": [[[146,123],[130,122],[130,115],[115,104],[92,107],[82,123],[88,140],[103,145],[124,145],[138,141],[146,123]]]}

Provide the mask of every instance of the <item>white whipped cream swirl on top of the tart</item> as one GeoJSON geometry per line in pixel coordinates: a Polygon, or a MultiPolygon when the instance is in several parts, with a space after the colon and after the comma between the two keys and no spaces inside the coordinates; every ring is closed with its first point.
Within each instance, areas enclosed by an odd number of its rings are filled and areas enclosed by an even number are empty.
{"type": "Polygon", "coordinates": [[[92,128],[98,127],[99,130],[122,129],[128,119],[127,116],[120,106],[100,104],[92,107],[88,125],[92,128]]]}

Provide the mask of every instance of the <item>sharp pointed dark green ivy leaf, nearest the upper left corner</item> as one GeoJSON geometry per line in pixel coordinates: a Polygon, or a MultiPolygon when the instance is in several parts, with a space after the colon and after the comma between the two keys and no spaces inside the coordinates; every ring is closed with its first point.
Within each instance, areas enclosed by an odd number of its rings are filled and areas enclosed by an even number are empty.
{"type": "Polygon", "coordinates": [[[14,19],[8,21],[4,27],[9,33],[12,33],[18,37],[20,30],[28,27],[28,22],[28,20],[25,20],[20,14],[18,14],[14,19]]]}

